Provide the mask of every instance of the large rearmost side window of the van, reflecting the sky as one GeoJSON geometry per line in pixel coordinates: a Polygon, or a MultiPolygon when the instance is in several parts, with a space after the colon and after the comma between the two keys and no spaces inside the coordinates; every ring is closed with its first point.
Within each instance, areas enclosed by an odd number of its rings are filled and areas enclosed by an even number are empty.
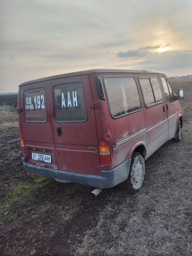
{"type": "Polygon", "coordinates": [[[106,77],[104,82],[113,117],[141,109],[139,92],[133,77],[106,77]]]}

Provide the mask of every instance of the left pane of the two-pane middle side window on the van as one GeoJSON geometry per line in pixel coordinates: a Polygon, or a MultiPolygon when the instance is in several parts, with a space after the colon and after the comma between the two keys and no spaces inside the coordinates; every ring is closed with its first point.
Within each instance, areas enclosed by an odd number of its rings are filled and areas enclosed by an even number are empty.
{"type": "Polygon", "coordinates": [[[154,93],[152,90],[152,86],[150,85],[149,78],[140,78],[140,84],[143,91],[145,105],[149,106],[150,104],[155,103],[154,93]]]}

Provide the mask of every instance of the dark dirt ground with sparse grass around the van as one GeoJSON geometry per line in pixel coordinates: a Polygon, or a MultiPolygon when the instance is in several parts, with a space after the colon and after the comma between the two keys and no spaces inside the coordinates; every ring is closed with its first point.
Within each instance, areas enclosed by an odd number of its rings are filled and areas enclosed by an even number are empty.
{"type": "Polygon", "coordinates": [[[183,139],[146,160],[134,195],[23,171],[16,97],[0,97],[0,255],[192,255],[192,80],[170,83],[185,91],[183,139]]]}

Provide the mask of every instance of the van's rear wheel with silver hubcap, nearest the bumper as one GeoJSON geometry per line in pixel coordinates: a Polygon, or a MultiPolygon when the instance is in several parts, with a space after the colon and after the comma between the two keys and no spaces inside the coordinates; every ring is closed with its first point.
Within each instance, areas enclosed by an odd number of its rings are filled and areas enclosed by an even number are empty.
{"type": "Polygon", "coordinates": [[[131,165],[128,179],[121,183],[121,187],[129,193],[140,190],[145,177],[145,161],[139,152],[134,152],[131,157],[131,165]]]}

